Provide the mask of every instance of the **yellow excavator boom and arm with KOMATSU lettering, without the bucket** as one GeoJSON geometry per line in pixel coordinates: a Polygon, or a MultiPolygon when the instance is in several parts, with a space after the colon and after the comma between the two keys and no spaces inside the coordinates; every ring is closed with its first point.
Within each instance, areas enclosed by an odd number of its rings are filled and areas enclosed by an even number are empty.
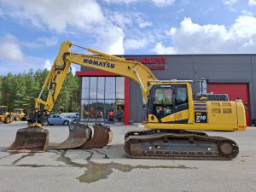
{"type": "Polygon", "coordinates": [[[137,61],[127,61],[114,55],[108,55],[90,48],[88,52],[95,55],[77,54],[71,51],[72,46],[79,46],[71,42],[63,42],[61,44],[58,55],[55,58],[54,64],[50,69],[47,78],[44,81],[42,90],[35,99],[35,113],[32,114],[30,126],[42,126],[44,116],[51,113],[54,108],[61,91],[62,84],[67,77],[67,73],[71,64],[77,64],[83,67],[91,67],[117,75],[126,76],[135,80],[140,84],[144,102],[148,100],[148,81],[157,80],[154,74],[150,72],[148,67],[137,61]],[[42,100],[41,96],[44,90],[48,90],[46,101],[42,100]]]}

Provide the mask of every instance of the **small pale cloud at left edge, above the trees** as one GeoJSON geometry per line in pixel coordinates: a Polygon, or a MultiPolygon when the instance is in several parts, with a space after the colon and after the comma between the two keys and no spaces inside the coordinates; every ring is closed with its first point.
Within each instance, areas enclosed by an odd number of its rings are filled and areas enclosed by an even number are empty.
{"type": "Polygon", "coordinates": [[[7,34],[0,37],[0,61],[22,61],[24,55],[15,36],[7,34]]]}

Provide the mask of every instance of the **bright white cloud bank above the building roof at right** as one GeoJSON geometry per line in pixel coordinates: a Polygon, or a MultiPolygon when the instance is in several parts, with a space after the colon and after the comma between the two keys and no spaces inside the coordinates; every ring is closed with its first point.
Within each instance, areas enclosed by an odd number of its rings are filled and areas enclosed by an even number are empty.
{"type": "Polygon", "coordinates": [[[170,32],[172,45],[159,43],[154,46],[157,54],[226,54],[255,53],[256,18],[241,15],[230,27],[223,25],[199,25],[184,18],[179,27],[170,32]]]}

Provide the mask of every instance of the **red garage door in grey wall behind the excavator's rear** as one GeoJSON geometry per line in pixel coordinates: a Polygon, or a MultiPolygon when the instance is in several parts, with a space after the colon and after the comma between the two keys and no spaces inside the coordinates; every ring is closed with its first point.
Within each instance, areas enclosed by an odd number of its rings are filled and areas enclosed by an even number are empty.
{"type": "Polygon", "coordinates": [[[228,94],[230,101],[240,98],[246,109],[247,125],[251,125],[248,84],[208,84],[208,92],[228,94]]]}

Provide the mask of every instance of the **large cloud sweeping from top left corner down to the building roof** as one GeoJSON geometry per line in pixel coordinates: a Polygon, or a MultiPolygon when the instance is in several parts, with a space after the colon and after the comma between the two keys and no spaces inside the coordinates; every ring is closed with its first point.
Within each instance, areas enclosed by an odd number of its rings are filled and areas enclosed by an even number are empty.
{"type": "MultiPolygon", "coordinates": [[[[103,15],[94,0],[15,1],[1,0],[6,6],[5,15],[18,20],[30,21],[32,26],[57,33],[90,35],[96,39],[96,46],[114,54],[123,54],[124,33],[103,15]],[[116,38],[116,39],[115,39],[116,38]]],[[[41,42],[51,44],[47,39],[41,42]]],[[[55,42],[55,41],[53,41],[55,42]]],[[[40,39],[38,39],[40,43],[40,39]]],[[[29,46],[29,45],[28,45],[29,46]]],[[[36,46],[31,44],[31,46],[36,46]]]]}

